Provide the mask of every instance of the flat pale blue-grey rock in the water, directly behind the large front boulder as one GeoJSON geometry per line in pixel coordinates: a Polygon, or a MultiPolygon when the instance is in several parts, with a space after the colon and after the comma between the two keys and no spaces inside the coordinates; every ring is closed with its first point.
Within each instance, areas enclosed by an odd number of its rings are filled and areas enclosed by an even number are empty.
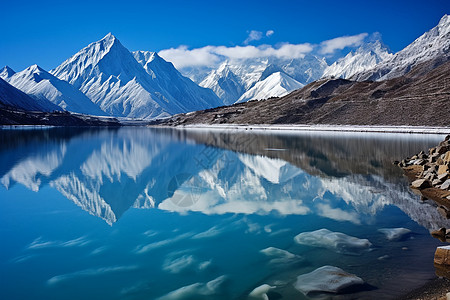
{"type": "Polygon", "coordinates": [[[294,237],[296,243],[312,247],[321,247],[337,253],[358,255],[369,249],[372,243],[368,239],[359,239],[341,232],[319,229],[303,232],[294,237]]]}

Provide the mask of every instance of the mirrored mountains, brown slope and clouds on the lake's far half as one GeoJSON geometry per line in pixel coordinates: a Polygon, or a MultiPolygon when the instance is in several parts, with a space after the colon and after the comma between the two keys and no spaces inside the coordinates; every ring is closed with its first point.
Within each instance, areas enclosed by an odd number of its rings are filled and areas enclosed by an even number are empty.
{"type": "Polygon", "coordinates": [[[392,161],[437,139],[135,128],[15,130],[3,133],[0,182],[33,191],[50,185],[108,224],[130,207],[317,214],[359,224],[394,204],[436,229],[445,220],[435,210],[421,215],[422,205],[392,161]],[[336,207],[330,194],[352,209],[336,207]]]}

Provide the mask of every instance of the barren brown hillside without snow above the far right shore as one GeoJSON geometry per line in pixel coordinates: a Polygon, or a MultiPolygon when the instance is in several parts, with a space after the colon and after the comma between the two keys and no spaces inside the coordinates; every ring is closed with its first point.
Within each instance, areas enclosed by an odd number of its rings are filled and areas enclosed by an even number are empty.
{"type": "Polygon", "coordinates": [[[285,97],[180,114],[159,123],[448,126],[450,62],[436,64],[422,63],[386,81],[319,80],[285,97]]]}

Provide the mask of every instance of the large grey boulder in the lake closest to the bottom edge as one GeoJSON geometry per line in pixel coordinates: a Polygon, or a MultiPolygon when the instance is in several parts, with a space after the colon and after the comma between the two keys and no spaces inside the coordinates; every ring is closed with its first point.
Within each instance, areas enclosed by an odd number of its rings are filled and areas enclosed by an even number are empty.
{"type": "Polygon", "coordinates": [[[364,284],[364,280],[356,275],[338,267],[323,266],[311,273],[298,276],[294,287],[307,295],[313,292],[339,293],[347,287],[361,284],[364,284]]]}

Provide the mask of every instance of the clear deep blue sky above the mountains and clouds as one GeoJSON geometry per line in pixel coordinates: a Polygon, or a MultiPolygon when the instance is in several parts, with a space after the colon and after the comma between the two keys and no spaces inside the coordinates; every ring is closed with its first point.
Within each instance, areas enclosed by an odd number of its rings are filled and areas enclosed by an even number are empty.
{"type": "Polygon", "coordinates": [[[24,0],[3,1],[1,12],[0,66],[20,71],[50,70],[108,32],[129,50],[149,51],[277,48],[379,32],[396,52],[450,13],[450,1],[24,0]],[[260,39],[249,40],[252,31],[260,39]]]}

